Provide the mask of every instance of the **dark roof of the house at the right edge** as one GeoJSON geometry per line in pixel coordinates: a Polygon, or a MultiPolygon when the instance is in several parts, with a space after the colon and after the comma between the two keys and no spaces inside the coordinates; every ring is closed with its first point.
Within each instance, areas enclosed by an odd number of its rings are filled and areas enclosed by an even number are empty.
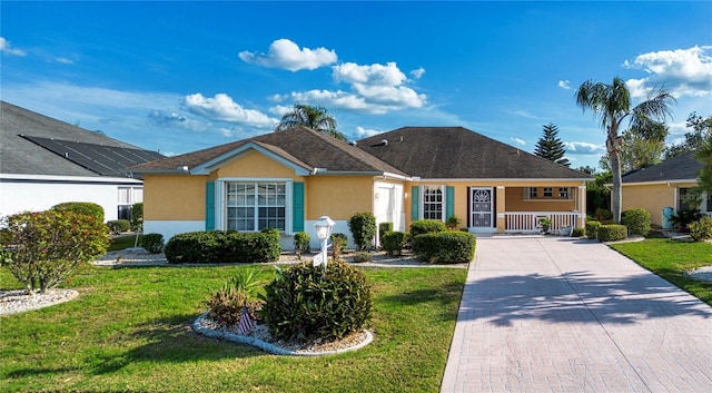
{"type": "Polygon", "coordinates": [[[694,155],[695,151],[688,151],[652,167],[629,171],[622,176],[623,184],[670,180],[694,181],[698,178],[698,171],[702,168],[702,163],[694,155]]]}

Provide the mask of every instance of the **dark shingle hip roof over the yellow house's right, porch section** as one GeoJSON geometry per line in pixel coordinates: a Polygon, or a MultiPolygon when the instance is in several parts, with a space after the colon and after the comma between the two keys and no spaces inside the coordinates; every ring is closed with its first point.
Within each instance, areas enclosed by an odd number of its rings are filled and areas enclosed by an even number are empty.
{"type": "Polygon", "coordinates": [[[463,127],[403,127],[357,144],[364,151],[421,178],[591,179],[463,127]]]}

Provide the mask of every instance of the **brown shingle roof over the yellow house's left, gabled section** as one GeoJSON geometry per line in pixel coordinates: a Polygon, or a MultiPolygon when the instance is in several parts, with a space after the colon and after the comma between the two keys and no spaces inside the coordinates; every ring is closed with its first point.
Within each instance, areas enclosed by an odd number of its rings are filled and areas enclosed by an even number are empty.
{"type": "Polygon", "coordinates": [[[285,131],[269,132],[257,137],[225,144],[204,150],[147,163],[132,167],[140,173],[175,170],[180,166],[198,167],[229,155],[249,143],[270,150],[295,165],[308,166],[306,169],[326,168],[328,171],[393,173],[405,175],[402,170],[368,155],[347,143],[298,127],[285,131]]]}

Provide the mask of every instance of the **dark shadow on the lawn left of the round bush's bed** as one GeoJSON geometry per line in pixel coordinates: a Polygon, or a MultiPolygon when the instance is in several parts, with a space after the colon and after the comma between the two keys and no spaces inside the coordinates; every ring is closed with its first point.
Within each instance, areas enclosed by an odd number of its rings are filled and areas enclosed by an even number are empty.
{"type": "Polygon", "coordinates": [[[265,355],[264,352],[237,343],[209,338],[196,333],[191,325],[198,315],[179,315],[137,326],[127,337],[129,342],[147,342],[123,354],[103,357],[91,371],[93,374],[113,373],[131,363],[184,363],[219,361],[265,355]]]}

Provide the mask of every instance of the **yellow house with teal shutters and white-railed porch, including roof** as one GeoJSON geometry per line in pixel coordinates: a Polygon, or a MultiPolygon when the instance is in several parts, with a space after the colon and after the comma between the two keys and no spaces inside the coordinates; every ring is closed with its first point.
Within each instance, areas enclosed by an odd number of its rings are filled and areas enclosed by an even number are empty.
{"type": "Polygon", "coordinates": [[[283,246],[314,224],[369,212],[407,230],[421,218],[456,215],[473,233],[583,226],[587,175],[462,127],[407,127],[347,144],[294,128],[147,163],[145,230],[279,228],[283,246]]]}

